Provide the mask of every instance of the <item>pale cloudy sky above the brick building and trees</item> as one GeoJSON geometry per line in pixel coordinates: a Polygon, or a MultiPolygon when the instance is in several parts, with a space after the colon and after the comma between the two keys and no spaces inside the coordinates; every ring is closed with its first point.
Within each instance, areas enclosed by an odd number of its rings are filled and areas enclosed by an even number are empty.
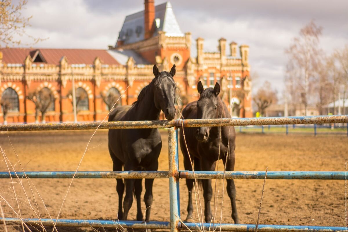
{"type": "MultiPolygon", "coordinates": [[[[155,4],[165,0],[155,0],[155,4]]],[[[207,51],[216,51],[221,37],[250,46],[254,91],[269,80],[283,89],[284,49],[311,19],[323,26],[321,46],[326,53],[348,44],[346,0],[172,0],[182,32],[192,33],[191,56],[198,37],[207,51]]],[[[143,10],[143,0],[29,0],[25,16],[32,15],[27,33],[48,38],[35,47],[100,48],[114,45],[128,14],[143,10]]],[[[26,38],[22,38],[25,42],[26,38]]],[[[229,54],[229,50],[227,51],[229,54]]]]}

